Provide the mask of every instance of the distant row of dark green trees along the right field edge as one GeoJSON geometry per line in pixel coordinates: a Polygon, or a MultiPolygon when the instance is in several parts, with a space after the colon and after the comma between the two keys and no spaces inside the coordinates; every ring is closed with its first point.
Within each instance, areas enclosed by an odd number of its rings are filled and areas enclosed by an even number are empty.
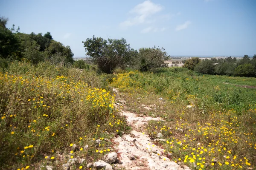
{"type": "Polygon", "coordinates": [[[198,57],[187,59],[184,68],[195,70],[202,74],[217,74],[240,77],[256,77],[256,54],[251,59],[244,55],[242,59],[227,57],[221,59],[200,60],[198,57]]]}

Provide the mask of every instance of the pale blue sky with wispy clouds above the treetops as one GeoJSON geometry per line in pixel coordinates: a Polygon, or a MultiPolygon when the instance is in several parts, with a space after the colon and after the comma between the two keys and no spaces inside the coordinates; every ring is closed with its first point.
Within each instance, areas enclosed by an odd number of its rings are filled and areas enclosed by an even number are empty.
{"type": "Polygon", "coordinates": [[[256,54],[256,0],[0,0],[8,28],[49,31],[84,57],[82,41],[125,38],[171,56],[256,54]]]}

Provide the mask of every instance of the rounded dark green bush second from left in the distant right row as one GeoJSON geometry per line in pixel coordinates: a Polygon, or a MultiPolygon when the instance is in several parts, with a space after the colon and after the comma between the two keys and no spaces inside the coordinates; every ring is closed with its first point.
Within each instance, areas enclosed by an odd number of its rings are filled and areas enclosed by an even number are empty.
{"type": "Polygon", "coordinates": [[[212,60],[203,60],[195,65],[195,71],[202,74],[214,74],[214,68],[212,60]]]}

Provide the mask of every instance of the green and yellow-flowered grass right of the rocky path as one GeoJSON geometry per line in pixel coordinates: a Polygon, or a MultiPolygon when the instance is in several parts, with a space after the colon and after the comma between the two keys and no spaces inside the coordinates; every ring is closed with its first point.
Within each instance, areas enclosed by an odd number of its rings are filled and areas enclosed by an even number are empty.
{"type": "Polygon", "coordinates": [[[111,85],[130,99],[126,105],[131,111],[164,119],[149,122],[145,133],[152,138],[162,133],[166,142],[156,144],[172,160],[197,170],[255,168],[256,89],[223,82],[254,85],[256,79],[168,68],[117,74],[111,85]]]}

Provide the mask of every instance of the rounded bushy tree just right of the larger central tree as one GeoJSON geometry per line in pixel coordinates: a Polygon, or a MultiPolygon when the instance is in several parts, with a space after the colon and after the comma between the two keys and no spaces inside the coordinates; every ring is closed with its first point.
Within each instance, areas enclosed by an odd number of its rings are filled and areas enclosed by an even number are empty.
{"type": "Polygon", "coordinates": [[[137,67],[140,71],[148,71],[155,68],[167,67],[165,63],[170,56],[164,48],[140,48],[137,57],[137,67]]]}

